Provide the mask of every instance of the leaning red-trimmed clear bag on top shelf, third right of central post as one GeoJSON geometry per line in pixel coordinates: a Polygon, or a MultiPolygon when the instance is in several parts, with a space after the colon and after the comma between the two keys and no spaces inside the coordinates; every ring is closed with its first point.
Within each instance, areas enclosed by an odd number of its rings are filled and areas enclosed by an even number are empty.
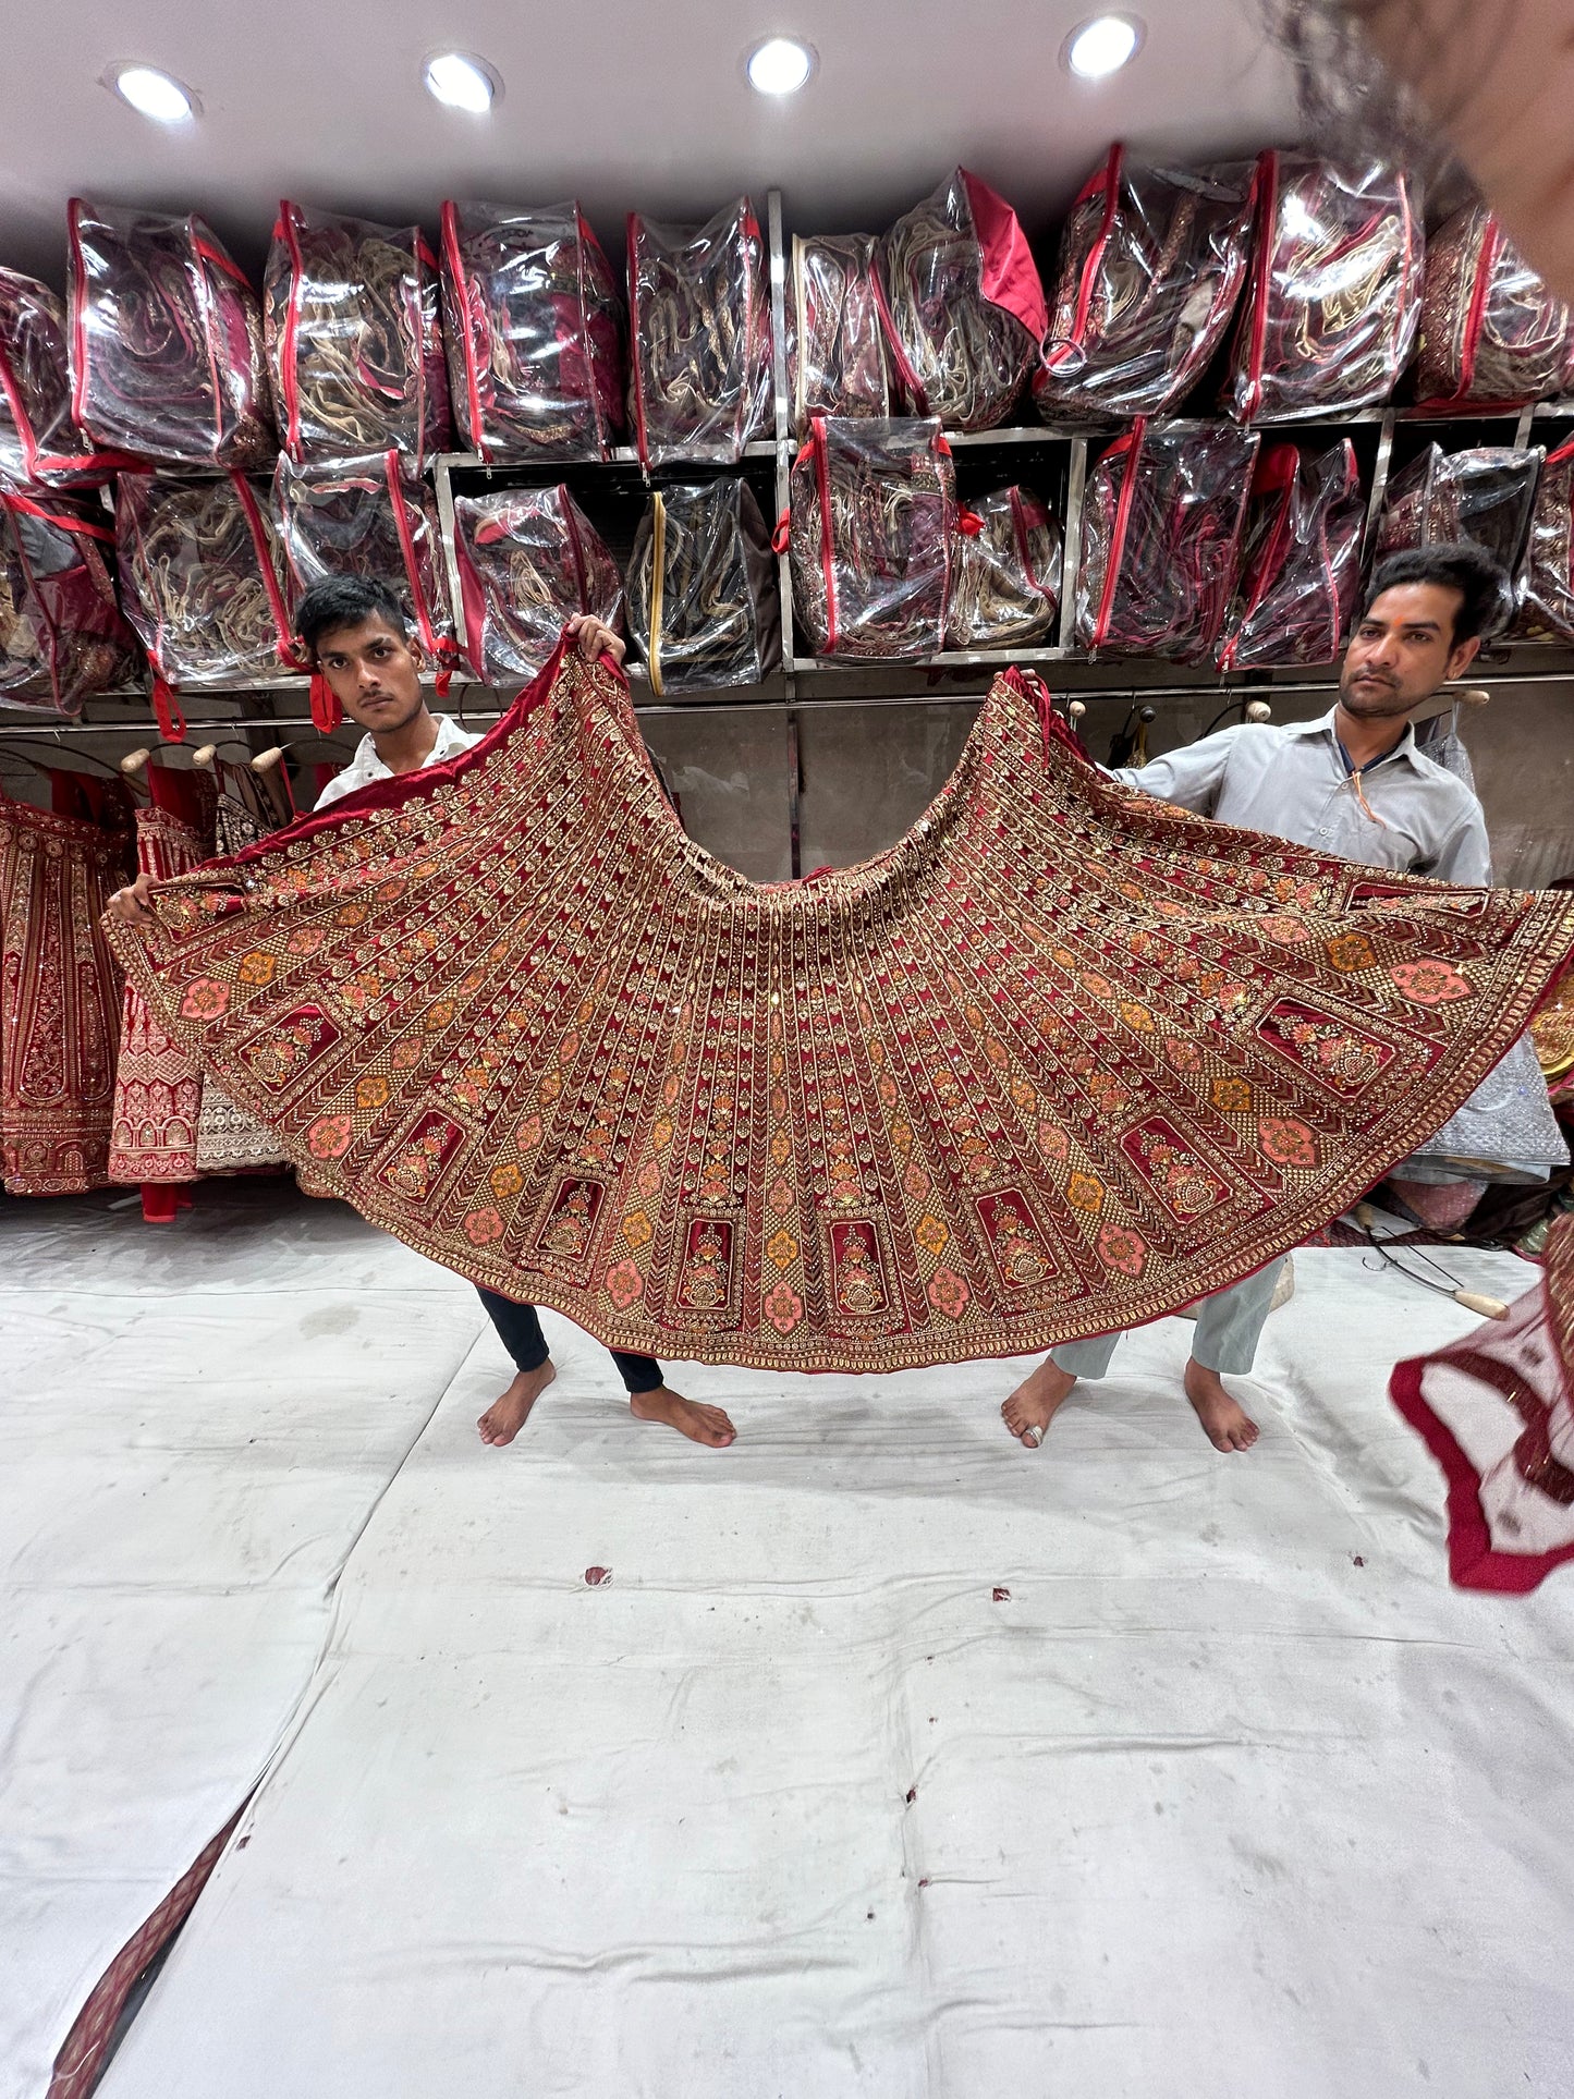
{"type": "Polygon", "coordinates": [[[1033,378],[1045,422],[1156,416],[1203,378],[1251,258],[1255,168],[1150,168],[1110,147],[1060,235],[1033,378]]]}

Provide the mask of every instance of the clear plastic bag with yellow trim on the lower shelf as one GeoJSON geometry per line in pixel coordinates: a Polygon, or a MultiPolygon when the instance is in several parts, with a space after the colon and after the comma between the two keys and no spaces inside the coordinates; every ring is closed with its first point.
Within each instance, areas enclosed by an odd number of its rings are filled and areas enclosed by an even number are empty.
{"type": "Polygon", "coordinates": [[[657,699],[781,670],[770,533],[747,481],[655,489],[634,535],[628,626],[657,699]]]}

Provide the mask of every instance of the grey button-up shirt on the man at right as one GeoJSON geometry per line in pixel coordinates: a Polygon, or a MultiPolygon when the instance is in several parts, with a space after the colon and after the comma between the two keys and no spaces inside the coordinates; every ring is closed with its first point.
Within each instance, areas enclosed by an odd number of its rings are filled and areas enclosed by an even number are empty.
{"type": "Polygon", "coordinates": [[[1331,707],[1316,722],[1240,722],[1110,777],[1198,817],[1270,831],[1362,867],[1488,884],[1486,821],[1465,781],[1423,756],[1406,726],[1398,749],[1360,777],[1381,817],[1373,823],[1339,756],[1333,716],[1331,707]]]}

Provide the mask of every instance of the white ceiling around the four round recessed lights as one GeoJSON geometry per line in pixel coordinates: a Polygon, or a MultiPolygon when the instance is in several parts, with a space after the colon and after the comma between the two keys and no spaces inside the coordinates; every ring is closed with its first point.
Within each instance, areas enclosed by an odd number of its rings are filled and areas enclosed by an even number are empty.
{"type": "Polygon", "coordinates": [[[1251,151],[1295,136],[1289,69],[1259,0],[1146,0],[1144,50],[1072,80],[1066,31],[1096,0],[13,0],[0,80],[0,260],[63,281],[71,193],[204,210],[256,269],[275,202],[434,222],[443,197],[579,195],[604,237],[628,208],[707,216],[785,191],[800,231],[877,229],[963,162],[1047,233],[1112,136],[1251,151]],[[808,38],[810,86],[743,80],[768,34],[808,38]],[[504,80],[489,118],[420,84],[434,50],[504,80]],[[172,71],[201,118],[166,132],[99,82],[172,71]]]}

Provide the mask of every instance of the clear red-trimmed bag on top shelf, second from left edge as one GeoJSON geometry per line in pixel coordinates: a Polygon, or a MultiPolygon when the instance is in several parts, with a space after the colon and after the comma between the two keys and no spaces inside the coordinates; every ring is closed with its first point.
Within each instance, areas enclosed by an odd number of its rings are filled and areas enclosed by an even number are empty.
{"type": "Polygon", "coordinates": [[[201,218],[69,204],[71,416],[145,466],[277,451],[256,294],[201,218]]]}

